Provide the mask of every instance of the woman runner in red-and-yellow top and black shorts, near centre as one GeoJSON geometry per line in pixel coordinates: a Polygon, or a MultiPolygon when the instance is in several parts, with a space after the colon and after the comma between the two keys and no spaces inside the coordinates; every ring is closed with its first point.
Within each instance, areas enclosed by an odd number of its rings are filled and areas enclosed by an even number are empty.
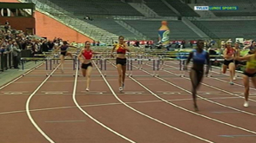
{"type": "Polygon", "coordinates": [[[128,49],[127,44],[124,42],[125,37],[119,36],[118,37],[119,43],[115,45],[111,51],[111,56],[113,57],[114,50],[117,51],[117,60],[116,64],[118,67],[118,83],[119,83],[119,91],[123,91],[125,88],[125,72],[126,72],[126,51],[130,51],[128,49]]]}

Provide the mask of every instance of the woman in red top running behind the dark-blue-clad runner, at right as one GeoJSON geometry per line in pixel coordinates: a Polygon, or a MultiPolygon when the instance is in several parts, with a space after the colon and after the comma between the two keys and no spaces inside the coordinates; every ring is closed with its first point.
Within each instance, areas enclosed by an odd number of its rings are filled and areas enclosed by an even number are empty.
{"type": "Polygon", "coordinates": [[[233,80],[235,80],[235,64],[234,57],[236,54],[236,50],[231,47],[231,42],[226,43],[226,49],[223,52],[224,62],[222,66],[223,74],[226,74],[226,68],[229,68],[230,71],[230,84],[233,85],[233,80]]]}

